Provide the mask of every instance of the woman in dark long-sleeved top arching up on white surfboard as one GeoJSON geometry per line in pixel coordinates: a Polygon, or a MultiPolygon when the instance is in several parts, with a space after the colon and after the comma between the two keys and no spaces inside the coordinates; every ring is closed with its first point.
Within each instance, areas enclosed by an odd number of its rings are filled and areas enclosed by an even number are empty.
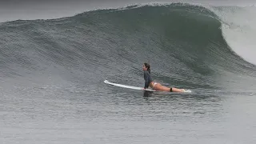
{"type": "Polygon", "coordinates": [[[148,63],[143,64],[143,71],[144,71],[144,80],[145,80],[145,86],[144,86],[143,90],[146,90],[150,86],[153,90],[170,91],[170,92],[185,92],[184,89],[177,89],[174,87],[166,87],[166,86],[162,86],[158,82],[154,82],[150,75],[150,65],[148,63]]]}

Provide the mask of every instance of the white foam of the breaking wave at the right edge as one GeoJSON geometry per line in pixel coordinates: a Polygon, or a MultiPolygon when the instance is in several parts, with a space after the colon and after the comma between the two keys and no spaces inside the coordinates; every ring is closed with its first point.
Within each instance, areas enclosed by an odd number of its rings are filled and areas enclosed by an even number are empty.
{"type": "Polygon", "coordinates": [[[222,21],[222,34],[232,50],[256,65],[256,7],[222,6],[212,9],[222,21]]]}

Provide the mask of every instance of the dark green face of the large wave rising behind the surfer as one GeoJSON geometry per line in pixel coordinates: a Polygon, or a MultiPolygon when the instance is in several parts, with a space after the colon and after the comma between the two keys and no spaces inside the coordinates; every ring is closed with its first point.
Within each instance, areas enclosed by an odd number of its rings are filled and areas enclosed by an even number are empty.
{"type": "Polygon", "coordinates": [[[1,78],[22,85],[103,86],[98,83],[109,79],[138,86],[149,62],[154,80],[171,86],[250,89],[255,66],[230,48],[219,19],[202,6],[175,3],[5,22],[1,78]]]}

